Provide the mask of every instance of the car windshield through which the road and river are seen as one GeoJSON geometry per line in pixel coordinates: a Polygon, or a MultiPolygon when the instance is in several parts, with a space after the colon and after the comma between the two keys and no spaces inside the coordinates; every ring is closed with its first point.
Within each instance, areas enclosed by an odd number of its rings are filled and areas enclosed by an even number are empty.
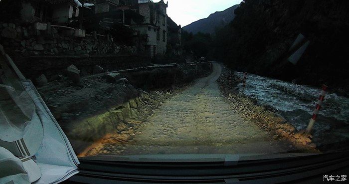
{"type": "Polygon", "coordinates": [[[348,5],[0,0],[0,146],[45,132],[30,80],[80,159],[348,151],[348,5]]]}

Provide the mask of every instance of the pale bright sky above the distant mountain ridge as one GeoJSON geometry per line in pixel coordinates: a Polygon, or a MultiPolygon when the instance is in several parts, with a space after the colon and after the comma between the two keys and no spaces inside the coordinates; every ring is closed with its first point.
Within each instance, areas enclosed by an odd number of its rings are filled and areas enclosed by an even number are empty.
{"type": "MultiPolygon", "coordinates": [[[[160,0],[153,0],[159,2],[160,0]]],[[[206,18],[211,13],[223,11],[242,0],[164,0],[169,1],[167,14],[182,27],[196,20],[206,18]]]]}

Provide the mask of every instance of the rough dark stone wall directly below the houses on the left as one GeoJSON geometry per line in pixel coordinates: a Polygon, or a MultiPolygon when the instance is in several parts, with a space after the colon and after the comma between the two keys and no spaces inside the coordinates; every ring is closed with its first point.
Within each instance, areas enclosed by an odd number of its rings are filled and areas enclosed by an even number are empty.
{"type": "Polygon", "coordinates": [[[36,30],[32,24],[0,22],[0,44],[10,56],[136,54],[136,47],[118,45],[106,38],[75,37],[66,28],[36,30]]]}

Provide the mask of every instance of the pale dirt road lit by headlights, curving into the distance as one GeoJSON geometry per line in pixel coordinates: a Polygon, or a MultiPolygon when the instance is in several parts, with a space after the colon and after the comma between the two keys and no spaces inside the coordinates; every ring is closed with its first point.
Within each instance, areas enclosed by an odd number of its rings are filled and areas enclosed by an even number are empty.
{"type": "MultiPolygon", "coordinates": [[[[165,101],[117,155],[279,153],[283,145],[246,121],[221,96],[221,66],[165,101]]],[[[110,153],[113,154],[113,153],[110,153]]]]}

